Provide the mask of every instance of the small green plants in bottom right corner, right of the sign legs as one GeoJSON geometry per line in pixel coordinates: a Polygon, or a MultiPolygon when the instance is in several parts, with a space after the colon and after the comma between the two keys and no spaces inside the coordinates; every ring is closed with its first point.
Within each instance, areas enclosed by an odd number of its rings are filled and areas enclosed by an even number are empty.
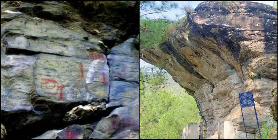
{"type": "MultiPolygon", "coordinates": [[[[261,129],[262,139],[273,139],[273,133],[277,131],[277,127],[275,129],[275,126],[267,126],[266,122],[260,125],[260,129],[261,129]]],[[[257,131],[256,133],[256,138],[260,139],[259,131],[257,131]]]]}

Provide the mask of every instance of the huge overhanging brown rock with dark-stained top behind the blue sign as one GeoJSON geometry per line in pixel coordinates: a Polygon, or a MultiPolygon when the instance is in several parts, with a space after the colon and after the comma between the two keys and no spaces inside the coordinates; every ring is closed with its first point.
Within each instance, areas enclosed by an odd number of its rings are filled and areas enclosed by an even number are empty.
{"type": "MultiPolygon", "coordinates": [[[[208,137],[217,133],[217,123],[222,121],[232,121],[237,131],[244,130],[238,98],[241,92],[253,91],[260,123],[272,120],[270,91],[277,86],[277,9],[249,1],[206,1],[183,19],[166,42],[142,50],[143,57],[165,67],[195,98],[208,137]]],[[[247,132],[255,133],[254,111],[246,108],[243,112],[247,132]]]]}

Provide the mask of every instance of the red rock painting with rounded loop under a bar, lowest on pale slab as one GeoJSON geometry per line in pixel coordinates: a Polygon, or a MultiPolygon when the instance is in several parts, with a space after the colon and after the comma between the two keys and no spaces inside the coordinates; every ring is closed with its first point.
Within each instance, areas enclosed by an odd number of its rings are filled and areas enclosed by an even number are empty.
{"type": "Polygon", "coordinates": [[[59,83],[56,80],[48,78],[42,78],[41,82],[45,84],[45,88],[47,90],[50,90],[45,93],[50,94],[51,96],[57,96],[60,91],[59,99],[63,99],[63,85],[59,85],[59,83]],[[56,90],[55,87],[57,87],[56,90]]]}

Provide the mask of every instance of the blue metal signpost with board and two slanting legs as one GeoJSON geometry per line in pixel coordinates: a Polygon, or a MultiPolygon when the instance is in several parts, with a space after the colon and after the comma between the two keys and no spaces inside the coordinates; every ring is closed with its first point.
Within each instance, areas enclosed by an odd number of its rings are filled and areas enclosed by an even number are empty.
{"type": "Polygon", "coordinates": [[[248,91],[248,92],[240,93],[239,94],[239,102],[240,102],[240,107],[241,107],[241,114],[242,114],[246,139],[248,139],[248,138],[247,138],[247,132],[246,132],[246,128],[245,128],[245,122],[244,122],[244,118],[243,118],[242,108],[250,107],[250,106],[254,106],[255,115],[256,115],[256,119],[257,119],[257,125],[258,125],[258,129],[259,129],[259,134],[260,134],[260,138],[262,139],[260,125],[259,125],[259,121],[258,121],[258,117],[257,117],[256,107],[255,107],[255,102],[254,102],[254,98],[253,98],[253,92],[248,91]]]}

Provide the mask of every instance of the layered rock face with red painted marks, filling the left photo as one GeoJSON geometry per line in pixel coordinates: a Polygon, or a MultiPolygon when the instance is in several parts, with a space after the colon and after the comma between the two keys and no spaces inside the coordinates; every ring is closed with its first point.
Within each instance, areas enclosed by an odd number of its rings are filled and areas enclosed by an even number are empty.
{"type": "Polygon", "coordinates": [[[138,3],[1,2],[1,139],[88,139],[138,98],[138,3]]]}

